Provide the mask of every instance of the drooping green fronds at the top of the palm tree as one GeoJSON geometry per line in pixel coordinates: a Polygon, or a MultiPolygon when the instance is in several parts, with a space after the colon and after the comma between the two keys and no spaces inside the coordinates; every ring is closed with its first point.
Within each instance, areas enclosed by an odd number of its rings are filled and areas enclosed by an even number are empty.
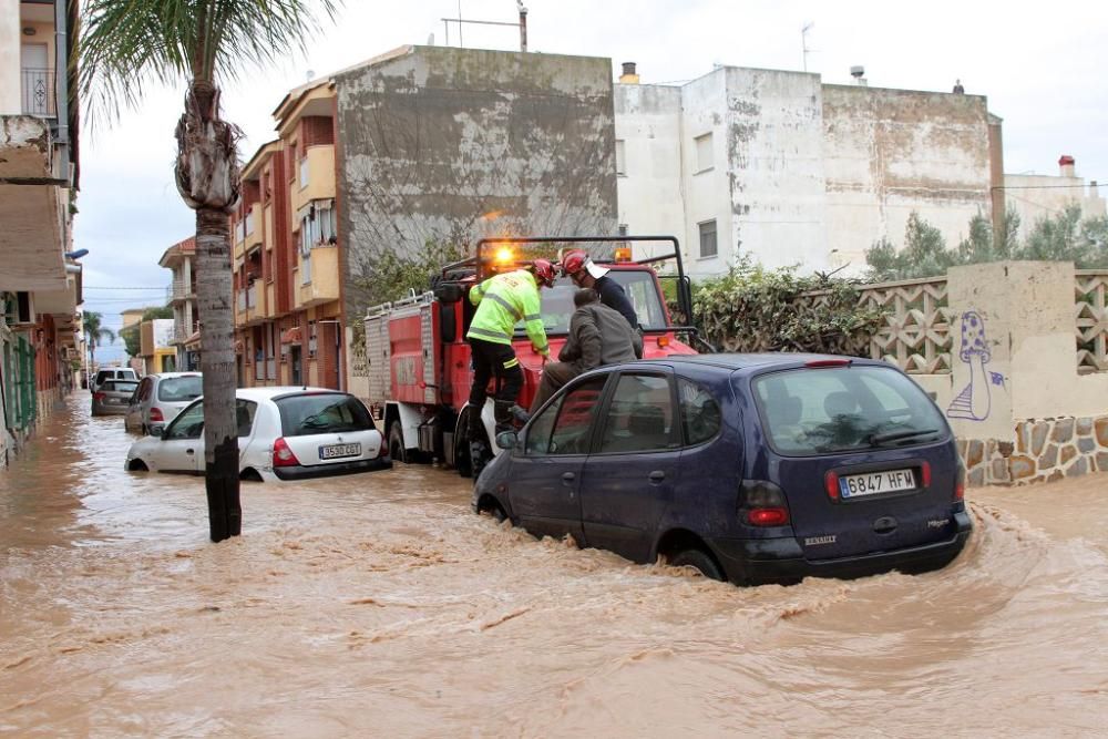
{"type": "Polygon", "coordinates": [[[90,122],[115,120],[152,84],[219,84],[302,51],[342,0],[88,0],[78,44],[90,122]]]}

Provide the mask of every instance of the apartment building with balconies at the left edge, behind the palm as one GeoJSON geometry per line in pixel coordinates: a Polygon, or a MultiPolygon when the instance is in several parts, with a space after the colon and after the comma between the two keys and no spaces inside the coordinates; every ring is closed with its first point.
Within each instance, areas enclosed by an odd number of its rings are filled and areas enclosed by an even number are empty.
{"type": "Polygon", "coordinates": [[[72,247],[76,0],[0,0],[0,468],[74,383],[82,252],[72,247]]]}

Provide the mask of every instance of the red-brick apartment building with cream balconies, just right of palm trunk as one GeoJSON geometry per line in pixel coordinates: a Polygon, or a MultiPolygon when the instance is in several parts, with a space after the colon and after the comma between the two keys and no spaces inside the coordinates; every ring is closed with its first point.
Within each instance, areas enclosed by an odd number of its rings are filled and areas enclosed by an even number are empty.
{"type": "Polygon", "coordinates": [[[341,388],[334,86],[291,91],[274,117],[232,216],[238,383],[341,388]]]}

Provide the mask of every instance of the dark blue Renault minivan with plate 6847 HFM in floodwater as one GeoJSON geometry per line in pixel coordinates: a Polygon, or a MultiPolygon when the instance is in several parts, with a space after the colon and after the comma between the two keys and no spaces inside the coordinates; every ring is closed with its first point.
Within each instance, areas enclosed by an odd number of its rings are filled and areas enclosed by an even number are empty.
{"type": "Polygon", "coordinates": [[[875,360],[605,367],[496,442],[479,513],[736,584],[938,568],[972,530],[943,413],[875,360]]]}

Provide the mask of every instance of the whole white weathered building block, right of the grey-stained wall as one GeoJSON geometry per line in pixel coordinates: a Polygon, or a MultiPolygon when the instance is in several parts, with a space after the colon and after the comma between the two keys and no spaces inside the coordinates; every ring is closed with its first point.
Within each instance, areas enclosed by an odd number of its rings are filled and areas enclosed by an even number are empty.
{"type": "Polygon", "coordinates": [[[948,246],[993,213],[1001,122],[983,96],[732,66],[679,86],[635,80],[615,85],[619,223],[677,235],[694,277],[743,255],[856,273],[875,242],[903,244],[913,212],[948,246]]]}

